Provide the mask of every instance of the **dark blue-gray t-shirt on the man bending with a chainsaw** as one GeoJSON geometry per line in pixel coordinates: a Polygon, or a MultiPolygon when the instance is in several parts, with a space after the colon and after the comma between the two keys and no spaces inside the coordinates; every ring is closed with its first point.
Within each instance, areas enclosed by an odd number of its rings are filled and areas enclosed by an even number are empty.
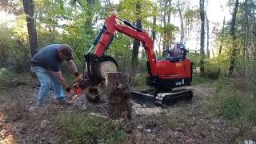
{"type": "Polygon", "coordinates": [[[60,44],[52,44],[38,51],[31,59],[32,66],[42,66],[51,71],[59,71],[62,64],[62,59],[58,56],[60,44]]]}

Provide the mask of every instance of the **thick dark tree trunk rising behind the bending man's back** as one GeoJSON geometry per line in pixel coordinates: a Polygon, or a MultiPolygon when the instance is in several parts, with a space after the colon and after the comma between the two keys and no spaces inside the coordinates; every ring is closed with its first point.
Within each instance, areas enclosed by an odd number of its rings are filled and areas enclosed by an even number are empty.
{"type": "Polygon", "coordinates": [[[26,14],[27,30],[30,38],[31,57],[37,53],[38,36],[34,26],[34,3],[33,0],[23,0],[23,9],[26,14]]]}

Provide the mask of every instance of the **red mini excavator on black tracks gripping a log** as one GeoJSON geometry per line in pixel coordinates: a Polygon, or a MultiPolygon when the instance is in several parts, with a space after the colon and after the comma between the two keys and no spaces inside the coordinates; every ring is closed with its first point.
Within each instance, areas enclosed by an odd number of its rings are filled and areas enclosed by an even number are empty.
{"type": "Polygon", "coordinates": [[[90,102],[98,102],[102,95],[102,85],[106,72],[118,72],[118,63],[110,55],[104,54],[117,32],[138,39],[146,51],[147,76],[146,84],[149,90],[133,90],[131,96],[135,102],[146,106],[169,106],[179,99],[190,100],[191,90],[177,89],[190,86],[192,81],[192,62],[186,58],[188,52],[178,45],[178,55],[166,53],[162,59],[154,54],[154,44],[146,30],[134,26],[128,20],[118,18],[115,14],[106,18],[102,29],[94,39],[90,50],[84,55],[86,58],[86,74],[74,84],[77,95],[85,91],[90,102]],[[119,22],[117,22],[119,21],[119,22]],[[91,52],[94,49],[94,52],[91,52]],[[174,90],[177,89],[177,90],[174,90]]]}

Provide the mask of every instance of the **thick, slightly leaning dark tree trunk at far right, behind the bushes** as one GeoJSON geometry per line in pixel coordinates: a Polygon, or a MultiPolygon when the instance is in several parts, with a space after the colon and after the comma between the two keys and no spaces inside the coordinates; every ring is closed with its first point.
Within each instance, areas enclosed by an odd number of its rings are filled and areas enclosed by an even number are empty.
{"type": "Polygon", "coordinates": [[[231,55],[230,55],[230,75],[233,74],[233,70],[234,70],[234,61],[235,61],[235,57],[237,54],[237,44],[235,42],[236,37],[234,34],[234,26],[235,26],[235,22],[236,22],[236,16],[237,16],[237,12],[238,12],[238,0],[235,1],[235,6],[234,6],[234,10],[233,10],[233,14],[232,14],[232,20],[231,20],[231,24],[230,24],[230,35],[232,37],[233,40],[233,44],[232,44],[232,51],[231,51],[231,55]]]}

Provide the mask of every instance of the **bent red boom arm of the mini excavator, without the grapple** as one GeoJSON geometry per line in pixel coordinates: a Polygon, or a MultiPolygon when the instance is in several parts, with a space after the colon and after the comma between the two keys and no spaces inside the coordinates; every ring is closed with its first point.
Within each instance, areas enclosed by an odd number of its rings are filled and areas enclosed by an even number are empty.
{"type": "Polygon", "coordinates": [[[94,45],[92,46],[94,47],[96,45],[94,54],[98,57],[101,57],[104,51],[106,51],[110,46],[110,43],[113,41],[114,35],[117,32],[126,34],[131,38],[138,39],[140,42],[142,42],[142,46],[146,50],[146,56],[150,66],[148,67],[148,69],[150,70],[150,74],[152,76],[156,76],[156,57],[154,54],[153,41],[150,38],[149,34],[147,34],[146,31],[141,30],[137,26],[134,26],[127,20],[122,20],[121,18],[118,18],[115,14],[110,15],[110,17],[106,19],[102,30],[99,32],[97,38],[95,38],[94,45]],[[116,22],[117,19],[126,24],[126,26],[118,24],[118,22],[116,22]]]}

